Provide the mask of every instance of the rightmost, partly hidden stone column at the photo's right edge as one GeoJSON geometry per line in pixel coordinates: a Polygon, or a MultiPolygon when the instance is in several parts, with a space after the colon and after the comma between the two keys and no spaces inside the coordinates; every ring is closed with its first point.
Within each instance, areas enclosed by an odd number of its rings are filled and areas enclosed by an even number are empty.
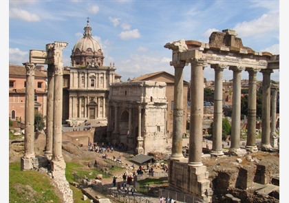
{"type": "MultiPolygon", "coordinates": [[[[271,87],[272,89],[272,87],[271,87]]],[[[270,133],[270,145],[272,147],[278,147],[278,136],[276,133],[276,111],[277,111],[277,92],[275,87],[272,89],[271,95],[271,133],[270,133]]]]}

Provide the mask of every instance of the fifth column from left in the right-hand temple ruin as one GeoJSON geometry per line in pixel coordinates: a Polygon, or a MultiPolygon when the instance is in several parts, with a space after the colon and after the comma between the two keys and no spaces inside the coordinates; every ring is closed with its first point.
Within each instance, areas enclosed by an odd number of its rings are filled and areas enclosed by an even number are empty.
{"type": "Polygon", "coordinates": [[[257,71],[254,68],[246,68],[249,74],[248,90],[248,122],[247,122],[247,142],[246,150],[250,152],[258,151],[256,146],[256,112],[257,112],[257,71]]]}

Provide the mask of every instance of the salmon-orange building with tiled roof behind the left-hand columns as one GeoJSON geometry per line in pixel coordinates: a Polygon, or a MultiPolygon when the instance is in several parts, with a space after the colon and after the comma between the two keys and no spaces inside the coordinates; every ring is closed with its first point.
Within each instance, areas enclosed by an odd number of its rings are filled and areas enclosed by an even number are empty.
{"type": "MultiPolygon", "coordinates": [[[[43,65],[37,65],[34,79],[34,112],[46,116],[47,76],[43,65]]],[[[9,65],[9,118],[25,122],[26,70],[23,65],[9,65]]]]}

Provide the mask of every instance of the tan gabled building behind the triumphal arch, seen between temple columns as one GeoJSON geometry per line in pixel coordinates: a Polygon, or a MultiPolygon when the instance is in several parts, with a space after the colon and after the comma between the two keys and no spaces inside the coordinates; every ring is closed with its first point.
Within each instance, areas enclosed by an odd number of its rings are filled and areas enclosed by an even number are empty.
{"type": "MultiPolygon", "coordinates": [[[[166,97],[168,102],[167,107],[167,116],[166,116],[166,131],[169,137],[173,135],[173,88],[175,85],[175,76],[172,74],[169,74],[168,72],[155,72],[151,74],[145,74],[143,76],[140,76],[138,78],[133,78],[131,81],[158,81],[158,82],[164,82],[167,84],[166,87],[166,97]]],[[[188,87],[189,83],[184,81],[184,118],[187,117],[187,106],[188,106],[188,87]]],[[[186,133],[186,119],[182,120],[182,132],[186,133]]]]}

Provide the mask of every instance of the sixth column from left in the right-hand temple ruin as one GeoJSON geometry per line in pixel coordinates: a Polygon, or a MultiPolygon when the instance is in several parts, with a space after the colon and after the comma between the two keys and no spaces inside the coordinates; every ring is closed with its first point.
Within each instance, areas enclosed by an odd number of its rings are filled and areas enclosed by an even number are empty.
{"type": "Polygon", "coordinates": [[[262,82],[262,132],[261,132],[261,150],[268,151],[270,145],[270,69],[261,70],[263,74],[262,82]]]}

